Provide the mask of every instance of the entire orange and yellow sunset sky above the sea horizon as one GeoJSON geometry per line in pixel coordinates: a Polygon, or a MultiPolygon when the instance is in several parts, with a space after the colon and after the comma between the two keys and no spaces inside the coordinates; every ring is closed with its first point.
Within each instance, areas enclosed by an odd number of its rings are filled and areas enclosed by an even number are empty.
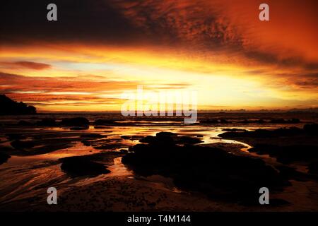
{"type": "Polygon", "coordinates": [[[4,1],[0,93],[40,112],[120,110],[137,85],[196,90],[199,109],[318,107],[317,15],[314,0],[4,1]]]}

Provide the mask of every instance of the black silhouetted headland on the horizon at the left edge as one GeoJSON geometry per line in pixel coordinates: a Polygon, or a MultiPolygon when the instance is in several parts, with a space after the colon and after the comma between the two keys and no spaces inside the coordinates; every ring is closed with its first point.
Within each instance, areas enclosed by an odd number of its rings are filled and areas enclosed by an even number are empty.
{"type": "Polygon", "coordinates": [[[0,95],[0,114],[36,114],[36,108],[0,95]]]}

